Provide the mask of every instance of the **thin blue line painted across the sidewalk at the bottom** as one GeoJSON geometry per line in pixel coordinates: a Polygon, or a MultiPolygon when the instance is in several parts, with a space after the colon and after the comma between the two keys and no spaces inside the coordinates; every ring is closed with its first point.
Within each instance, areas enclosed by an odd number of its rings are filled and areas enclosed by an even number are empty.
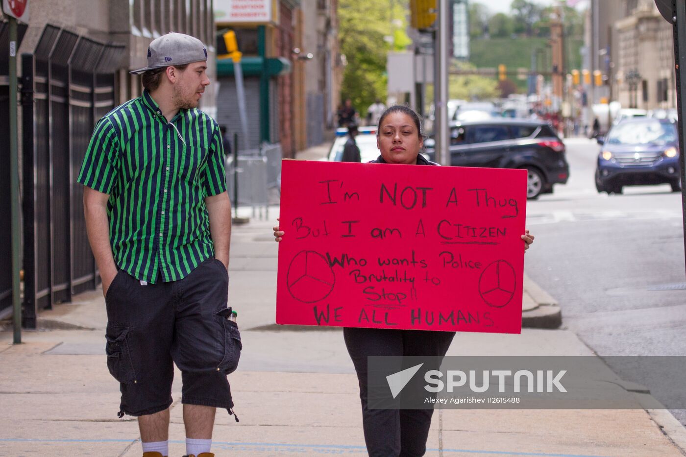
{"type": "MultiPolygon", "coordinates": [[[[125,439],[99,439],[99,440],[88,440],[88,439],[40,439],[40,438],[0,438],[0,442],[27,442],[27,443],[131,443],[137,440],[125,440],[125,439]]],[[[170,440],[170,443],[185,444],[185,441],[180,440],[170,440]]],[[[246,446],[246,447],[285,447],[292,449],[291,452],[298,452],[298,449],[331,449],[331,450],[348,450],[366,452],[364,446],[355,445],[308,445],[308,444],[289,444],[289,443],[232,443],[228,441],[213,441],[213,446],[246,446]]],[[[438,452],[438,449],[427,449],[427,451],[438,452]]],[[[541,452],[514,452],[514,451],[483,451],[476,449],[443,449],[443,452],[452,452],[456,454],[495,454],[500,456],[531,456],[531,457],[606,457],[606,456],[596,456],[591,454],[546,454],[541,452]]]]}

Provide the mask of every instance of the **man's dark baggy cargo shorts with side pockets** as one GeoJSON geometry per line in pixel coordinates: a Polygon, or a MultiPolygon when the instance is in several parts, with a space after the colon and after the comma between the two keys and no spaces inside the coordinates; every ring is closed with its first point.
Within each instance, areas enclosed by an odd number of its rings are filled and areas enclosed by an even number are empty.
{"type": "Polygon", "coordinates": [[[123,414],[154,414],[171,405],[174,363],[182,403],[226,408],[233,401],[226,375],[241,355],[241,335],[226,318],[228,272],[217,259],[184,279],[141,285],[119,270],[107,290],[107,366],[119,381],[123,414]]]}

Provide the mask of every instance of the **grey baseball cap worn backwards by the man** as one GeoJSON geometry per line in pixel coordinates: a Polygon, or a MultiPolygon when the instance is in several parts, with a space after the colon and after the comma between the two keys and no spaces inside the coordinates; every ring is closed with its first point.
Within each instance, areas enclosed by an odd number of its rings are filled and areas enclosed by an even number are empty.
{"type": "Polygon", "coordinates": [[[207,49],[202,41],[190,35],[170,32],[150,43],[150,47],[147,48],[147,67],[130,73],[139,75],[158,68],[186,65],[202,60],[207,60],[207,49]]]}

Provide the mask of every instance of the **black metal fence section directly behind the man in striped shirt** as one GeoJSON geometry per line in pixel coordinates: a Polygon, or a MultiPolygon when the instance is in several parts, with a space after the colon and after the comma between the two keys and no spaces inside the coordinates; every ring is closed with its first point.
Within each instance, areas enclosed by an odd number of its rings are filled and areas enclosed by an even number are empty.
{"type": "Polygon", "coordinates": [[[36,326],[36,309],[99,282],[75,181],[95,121],[115,107],[123,49],[47,25],[35,62],[22,56],[23,104],[34,108],[23,115],[25,327],[36,326]]]}

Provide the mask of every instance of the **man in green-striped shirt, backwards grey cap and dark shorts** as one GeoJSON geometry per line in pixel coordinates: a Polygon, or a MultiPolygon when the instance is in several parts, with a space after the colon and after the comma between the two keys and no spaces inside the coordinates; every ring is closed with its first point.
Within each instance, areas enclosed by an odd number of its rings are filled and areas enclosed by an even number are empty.
{"type": "Polygon", "coordinates": [[[170,33],[147,52],[143,95],[100,119],[78,182],[107,307],[108,368],[119,417],[139,418],[144,457],[168,454],[174,363],[189,456],[210,451],[216,408],[233,414],[226,375],[241,351],[227,319],[230,202],[217,123],[196,109],[207,52],[170,33]]]}

